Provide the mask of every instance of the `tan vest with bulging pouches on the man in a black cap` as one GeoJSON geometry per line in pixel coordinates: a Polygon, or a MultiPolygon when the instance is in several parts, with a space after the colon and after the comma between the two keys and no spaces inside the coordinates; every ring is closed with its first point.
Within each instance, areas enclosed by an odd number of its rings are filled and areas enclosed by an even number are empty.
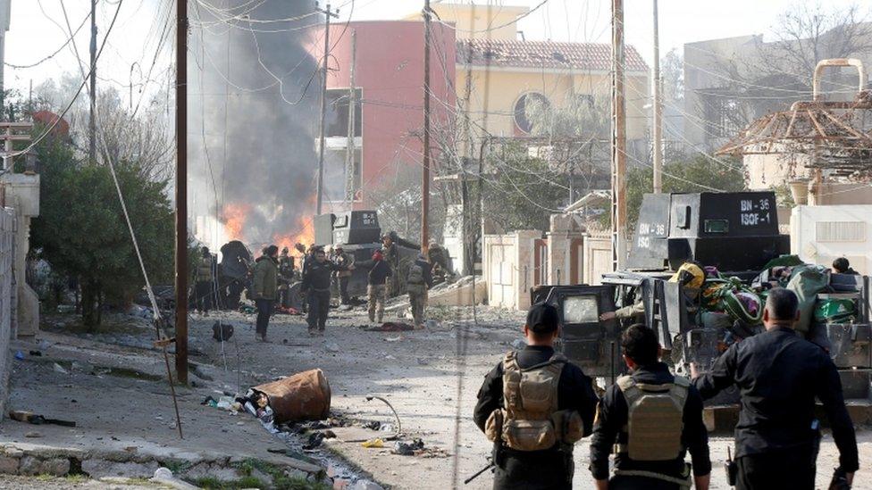
{"type": "Polygon", "coordinates": [[[555,444],[574,444],[583,436],[577,411],[558,411],[558,383],[567,360],[554,354],[549,361],[522,370],[517,353],[503,360],[505,408],[495,410],[485,433],[516,451],[541,451],[555,444]]]}

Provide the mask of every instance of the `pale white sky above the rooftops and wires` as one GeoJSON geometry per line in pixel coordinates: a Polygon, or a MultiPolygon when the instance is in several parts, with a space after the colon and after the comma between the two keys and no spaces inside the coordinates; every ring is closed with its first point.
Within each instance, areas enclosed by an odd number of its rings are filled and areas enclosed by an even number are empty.
{"type": "MultiPolygon", "coordinates": [[[[64,27],[62,2],[73,30],[86,20],[89,11],[87,0],[11,1],[12,20],[5,38],[5,62],[13,64],[38,62],[55,52],[67,40],[69,36],[64,27]]],[[[158,56],[157,62],[153,63],[153,60],[168,14],[174,13],[174,5],[169,0],[99,0],[97,29],[101,42],[119,1],[122,1],[122,9],[118,21],[97,64],[98,83],[119,88],[125,101],[130,96],[130,84],[134,84],[135,103],[138,99],[138,87],[145,83],[147,87],[154,88],[160,82],[165,83],[170,75],[167,67],[172,62],[172,29],[165,36],[162,54],[158,56]],[[153,64],[155,67],[151,68],[153,64]],[[147,76],[149,69],[150,77],[147,76]]],[[[197,2],[221,4],[221,1],[191,0],[190,9],[194,14],[197,2]]],[[[529,7],[541,3],[541,0],[491,1],[496,5],[529,7]]],[[[438,0],[432,2],[437,3],[438,0]]],[[[476,2],[487,4],[486,0],[476,2]]],[[[795,0],[661,0],[661,55],[672,48],[681,50],[683,44],[688,42],[748,34],[765,35],[776,25],[779,14],[797,4],[795,0]]],[[[826,0],[827,8],[841,8],[851,4],[868,5],[868,2],[826,0]]],[[[547,0],[541,8],[520,21],[519,29],[524,31],[528,40],[608,42],[610,5],[610,0],[547,0]]],[[[348,21],[349,17],[354,20],[400,19],[420,11],[423,0],[334,0],[333,7],[336,6],[340,7],[339,21],[348,21]]],[[[625,0],[626,42],[636,46],[648,62],[652,59],[653,50],[651,6],[652,0],[625,0]]],[[[872,7],[867,8],[872,10],[872,7]]],[[[86,21],[75,37],[80,55],[86,59],[88,30],[86,21]]],[[[37,87],[43,80],[57,78],[63,72],[78,72],[79,67],[71,46],[66,46],[55,57],[33,68],[13,69],[6,66],[6,87],[19,88],[27,93],[30,80],[37,87]]]]}

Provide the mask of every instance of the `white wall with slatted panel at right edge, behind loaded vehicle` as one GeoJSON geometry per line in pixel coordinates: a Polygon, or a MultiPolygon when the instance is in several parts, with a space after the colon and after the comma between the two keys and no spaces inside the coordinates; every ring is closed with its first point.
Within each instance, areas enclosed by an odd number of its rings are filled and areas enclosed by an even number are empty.
{"type": "Polygon", "coordinates": [[[872,272],[872,205],[796,206],[791,214],[791,252],[829,265],[846,257],[861,274],[872,272]]]}

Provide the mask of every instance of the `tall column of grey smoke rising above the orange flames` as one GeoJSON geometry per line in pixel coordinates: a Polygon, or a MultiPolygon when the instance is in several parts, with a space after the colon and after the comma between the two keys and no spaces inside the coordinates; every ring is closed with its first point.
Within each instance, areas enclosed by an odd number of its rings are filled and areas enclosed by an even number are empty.
{"type": "Polygon", "coordinates": [[[189,53],[192,213],[249,245],[287,242],[314,212],[321,85],[306,46],[322,15],[303,0],[200,5],[189,53]]]}

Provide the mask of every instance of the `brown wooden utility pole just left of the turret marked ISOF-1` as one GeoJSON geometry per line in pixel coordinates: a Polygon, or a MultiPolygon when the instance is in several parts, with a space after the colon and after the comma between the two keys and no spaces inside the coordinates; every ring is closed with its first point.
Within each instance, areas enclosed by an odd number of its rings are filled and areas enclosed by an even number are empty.
{"type": "Polygon", "coordinates": [[[626,255],[626,101],[624,0],[612,0],[612,266],[626,255]]]}

